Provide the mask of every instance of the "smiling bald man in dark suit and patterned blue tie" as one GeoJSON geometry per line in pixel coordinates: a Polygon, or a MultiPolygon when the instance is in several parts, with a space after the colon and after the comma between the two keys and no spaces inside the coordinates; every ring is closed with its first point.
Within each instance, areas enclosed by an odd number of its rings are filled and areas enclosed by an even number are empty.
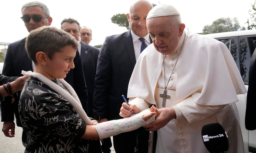
{"type": "MultiPolygon", "coordinates": [[[[148,1],[137,1],[127,14],[131,29],[105,39],[95,76],[93,111],[99,122],[122,118],[119,116],[124,102],[122,95],[127,97],[128,83],[143,44],[139,38],[144,38],[147,46],[152,43],[146,29],[146,17],[152,8],[148,1]]],[[[134,147],[140,153],[148,152],[149,133],[144,128],[139,130],[113,136],[116,153],[133,153],[134,147]],[[142,133],[145,135],[140,137],[142,133]]]]}

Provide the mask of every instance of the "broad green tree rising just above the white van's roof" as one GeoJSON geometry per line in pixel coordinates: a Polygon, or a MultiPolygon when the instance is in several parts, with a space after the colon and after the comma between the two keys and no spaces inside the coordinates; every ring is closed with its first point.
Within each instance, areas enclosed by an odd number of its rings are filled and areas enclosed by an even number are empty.
{"type": "Polygon", "coordinates": [[[203,32],[201,34],[210,34],[210,33],[219,33],[219,32],[229,32],[229,31],[238,31],[245,30],[244,27],[240,27],[240,24],[236,17],[230,18],[219,18],[212,22],[209,26],[204,26],[203,32]]]}

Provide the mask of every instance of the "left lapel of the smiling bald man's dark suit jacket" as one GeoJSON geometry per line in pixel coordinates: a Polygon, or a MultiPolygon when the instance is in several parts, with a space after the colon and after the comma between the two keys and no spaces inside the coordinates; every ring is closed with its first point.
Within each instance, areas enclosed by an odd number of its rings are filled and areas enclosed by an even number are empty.
{"type": "Polygon", "coordinates": [[[131,30],[127,31],[124,35],[124,44],[131,59],[131,63],[133,66],[136,64],[136,58],[134,53],[134,47],[132,42],[131,30]]]}

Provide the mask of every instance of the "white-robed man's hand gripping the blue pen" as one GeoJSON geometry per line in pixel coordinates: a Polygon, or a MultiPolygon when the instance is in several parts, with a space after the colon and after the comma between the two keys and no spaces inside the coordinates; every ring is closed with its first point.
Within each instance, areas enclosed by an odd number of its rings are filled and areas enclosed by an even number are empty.
{"type": "Polygon", "coordinates": [[[130,117],[132,116],[131,110],[133,111],[134,114],[140,113],[140,109],[136,105],[127,105],[127,103],[123,103],[122,107],[120,108],[120,113],[119,115],[123,118],[130,117]]]}

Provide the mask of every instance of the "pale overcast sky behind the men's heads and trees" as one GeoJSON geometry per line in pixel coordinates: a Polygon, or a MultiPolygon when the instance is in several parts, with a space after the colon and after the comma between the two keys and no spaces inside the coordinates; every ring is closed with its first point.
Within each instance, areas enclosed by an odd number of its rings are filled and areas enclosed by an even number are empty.
{"type": "MultiPolygon", "coordinates": [[[[0,42],[12,43],[26,37],[29,33],[24,26],[21,7],[31,0],[2,0],[0,2],[0,42]]],[[[92,30],[91,46],[102,45],[105,37],[126,32],[111,22],[115,14],[127,14],[130,5],[137,0],[38,0],[48,6],[53,18],[53,27],[60,28],[64,18],[74,18],[81,26],[92,30]]],[[[250,18],[248,11],[255,0],[148,0],[154,4],[171,4],[181,14],[185,30],[200,33],[206,25],[211,25],[218,18],[237,17],[240,26],[247,27],[250,18]]]]}

